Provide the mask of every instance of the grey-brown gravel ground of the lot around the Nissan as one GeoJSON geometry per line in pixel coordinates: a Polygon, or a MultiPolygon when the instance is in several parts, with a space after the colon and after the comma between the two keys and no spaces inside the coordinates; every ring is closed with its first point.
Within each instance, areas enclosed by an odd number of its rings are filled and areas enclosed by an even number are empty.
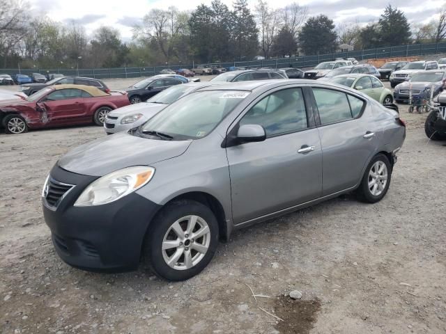
{"type": "Polygon", "coordinates": [[[0,134],[0,333],[445,333],[446,143],[428,143],[426,115],[406,109],[381,202],[342,196],[237,231],[182,283],[143,268],[88,273],[54,253],[41,187],[61,154],[101,128],[0,134]],[[302,298],[284,296],[293,290],[302,298]]]}

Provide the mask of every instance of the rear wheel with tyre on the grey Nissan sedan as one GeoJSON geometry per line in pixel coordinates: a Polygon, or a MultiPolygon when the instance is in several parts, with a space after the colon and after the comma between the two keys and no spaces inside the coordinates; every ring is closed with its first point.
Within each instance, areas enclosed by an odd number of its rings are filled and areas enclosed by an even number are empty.
{"type": "Polygon", "coordinates": [[[392,166],[382,153],[376,154],[367,166],[361,184],[357,189],[357,197],[362,202],[376,203],[383,199],[390,186],[392,166]]]}

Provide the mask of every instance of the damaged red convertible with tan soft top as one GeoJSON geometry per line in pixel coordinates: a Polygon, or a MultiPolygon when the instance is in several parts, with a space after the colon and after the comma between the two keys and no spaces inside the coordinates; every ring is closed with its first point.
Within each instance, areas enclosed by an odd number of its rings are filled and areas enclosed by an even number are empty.
{"type": "Polygon", "coordinates": [[[26,97],[26,100],[1,101],[0,124],[7,134],[91,122],[102,126],[109,111],[128,104],[125,92],[105,93],[83,85],[50,86],[26,97]]]}

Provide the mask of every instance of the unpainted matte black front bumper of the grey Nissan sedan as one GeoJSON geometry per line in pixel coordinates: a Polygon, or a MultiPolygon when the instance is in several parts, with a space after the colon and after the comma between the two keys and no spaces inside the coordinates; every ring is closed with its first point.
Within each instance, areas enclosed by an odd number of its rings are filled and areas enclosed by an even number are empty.
{"type": "Polygon", "coordinates": [[[70,173],[59,166],[50,175],[75,185],[56,208],[43,198],[43,215],[59,257],[89,271],[137,269],[144,235],[160,205],[131,193],[106,205],[74,207],[82,191],[98,177],[70,173]]]}

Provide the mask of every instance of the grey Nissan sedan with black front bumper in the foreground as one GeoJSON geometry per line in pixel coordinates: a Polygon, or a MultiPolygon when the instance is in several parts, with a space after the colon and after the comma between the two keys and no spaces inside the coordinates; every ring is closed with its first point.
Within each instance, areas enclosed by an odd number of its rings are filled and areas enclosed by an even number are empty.
{"type": "Polygon", "coordinates": [[[378,202],[405,134],[396,111],[344,86],[203,88],[61,157],[43,186],[45,221],[73,267],[126,271],[144,259],[186,280],[233,230],[351,191],[378,202]]]}

